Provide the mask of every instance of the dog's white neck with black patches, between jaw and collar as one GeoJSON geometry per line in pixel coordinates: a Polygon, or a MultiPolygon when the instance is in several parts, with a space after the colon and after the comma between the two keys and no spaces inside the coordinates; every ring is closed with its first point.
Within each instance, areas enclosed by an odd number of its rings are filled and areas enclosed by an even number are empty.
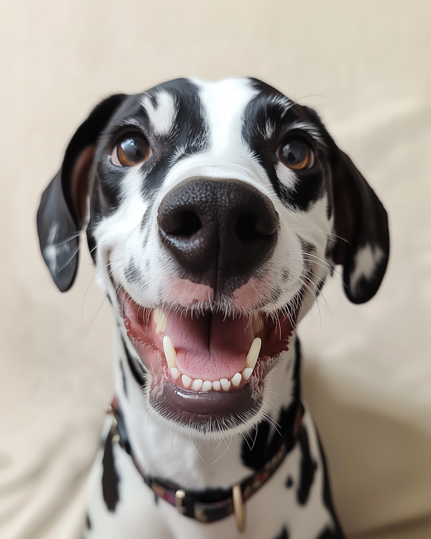
{"type": "Polygon", "coordinates": [[[221,441],[193,439],[164,425],[144,403],[143,386],[136,364],[127,353],[117,329],[114,355],[116,396],[122,411],[131,449],[142,469],[175,481],[184,488],[229,487],[263,467],[274,440],[293,437],[299,402],[300,350],[296,332],[289,350],[267,375],[265,392],[268,419],[248,433],[221,441]]]}

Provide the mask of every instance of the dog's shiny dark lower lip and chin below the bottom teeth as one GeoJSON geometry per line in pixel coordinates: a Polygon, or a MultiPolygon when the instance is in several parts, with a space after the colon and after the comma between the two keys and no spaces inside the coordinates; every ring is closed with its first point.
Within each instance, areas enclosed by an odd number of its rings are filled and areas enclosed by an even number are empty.
{"type": "MultiPolygon", "coordinates": [[[[255,384],[253,384],[255,385],[255,384]]],[[[179,388],[165,381],[162,395],[152,396],[155,408],[164,417],[184,426],[206,424],[210,431],[220,430],[221,424],[243,423],[245,415],[254,415],[261,407],[261,390],[246,384],[238,391],[197,392],[179,388]]]]}

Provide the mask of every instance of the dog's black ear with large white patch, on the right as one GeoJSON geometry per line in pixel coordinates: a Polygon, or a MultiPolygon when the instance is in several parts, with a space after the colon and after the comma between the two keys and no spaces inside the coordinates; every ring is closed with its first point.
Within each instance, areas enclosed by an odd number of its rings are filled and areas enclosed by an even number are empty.
{"type": "Polygon", "coordinates": [[[335,264],[342,264],[344,291],[353,303],[365,303],[379,289],[389,258],[387,213],[350,158],[332,146],[335,264]]]}

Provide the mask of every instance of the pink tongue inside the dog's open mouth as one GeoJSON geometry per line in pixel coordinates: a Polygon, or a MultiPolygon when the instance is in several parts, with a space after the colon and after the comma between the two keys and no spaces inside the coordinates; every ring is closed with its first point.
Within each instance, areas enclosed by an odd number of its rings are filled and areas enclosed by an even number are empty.
{"type": "Polygon", "coordinates": [[[246,368],[254,339],[248,319],[226,319],[221,314],[180,316],[168,314],[165,335],[177,351],[177,367],[193,379],[230,379],[246,368]]]}

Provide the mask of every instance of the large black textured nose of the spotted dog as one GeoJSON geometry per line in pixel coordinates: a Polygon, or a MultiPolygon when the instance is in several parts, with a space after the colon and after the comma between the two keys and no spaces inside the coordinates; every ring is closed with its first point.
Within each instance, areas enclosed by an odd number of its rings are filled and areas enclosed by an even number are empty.
{"type": "Polygon", "coordinates": [[[183,276],[221,291],[269,259],[279,219],[269,198],[245,182],[193,179],[163,198],[158,225],[183,276]]]}

